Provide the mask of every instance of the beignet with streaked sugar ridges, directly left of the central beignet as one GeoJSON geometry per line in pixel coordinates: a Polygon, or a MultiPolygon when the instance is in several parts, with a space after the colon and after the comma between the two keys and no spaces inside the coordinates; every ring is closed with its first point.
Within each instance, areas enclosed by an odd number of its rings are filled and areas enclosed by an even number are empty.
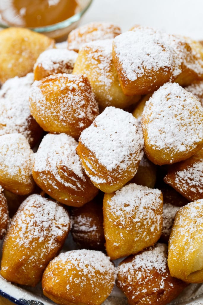
{"type": "Polygon", "coordinates": [[[33,178],[48,195],[69,206],[82,206],[92,200],[98,189],[86,176],[77,142],[66,135],[45,135],[35,153],[33,178]]]}

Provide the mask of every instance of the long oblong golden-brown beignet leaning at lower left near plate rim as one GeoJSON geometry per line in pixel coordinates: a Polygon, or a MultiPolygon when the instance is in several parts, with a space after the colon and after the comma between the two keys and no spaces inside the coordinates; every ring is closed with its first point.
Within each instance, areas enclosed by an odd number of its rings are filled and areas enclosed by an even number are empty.
{"type": "Polygon", "coordinates": [[[70,229],[65,208],[30,195],[13,217],[3,244],[1,275],[10,282],[35,286],[61,250],[70,229]]]}

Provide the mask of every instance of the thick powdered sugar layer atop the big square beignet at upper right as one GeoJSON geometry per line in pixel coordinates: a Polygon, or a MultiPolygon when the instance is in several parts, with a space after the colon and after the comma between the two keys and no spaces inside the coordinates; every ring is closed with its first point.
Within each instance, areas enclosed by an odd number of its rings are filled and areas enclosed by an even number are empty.
{"type": "Polygon", "coordinates": [[[180,60],[169,41],[169,35],[158,30],[136,27],[114,38],[114,51],[122,67],[122,73],[130,81],[137,80],[147,71],[178,76],[180,60]]]}

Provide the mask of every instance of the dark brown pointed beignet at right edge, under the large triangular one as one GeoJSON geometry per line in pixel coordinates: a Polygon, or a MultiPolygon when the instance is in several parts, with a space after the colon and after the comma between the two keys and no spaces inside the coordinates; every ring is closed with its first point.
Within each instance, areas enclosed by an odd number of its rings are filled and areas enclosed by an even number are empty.
{"type": "Polygon", "coordinates": [[[203,198],[203,149],[168,169],[164,181],[190,201],[203,198]]]}

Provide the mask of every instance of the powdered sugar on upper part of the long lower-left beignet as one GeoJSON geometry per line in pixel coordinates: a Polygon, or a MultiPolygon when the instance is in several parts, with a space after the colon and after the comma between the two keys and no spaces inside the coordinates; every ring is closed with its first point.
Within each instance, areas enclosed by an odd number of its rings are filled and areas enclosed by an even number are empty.
{"type": "MultiPolygon", "coordinates": [[[[14,245],[12,254],[15,255],[16,247],[23,247],[36,251],[36,257],[39,257],[37,245],[44,242],[46,246],[40,248],[43,262],[45,253],[55,249],[58,238],[66,235],[69,226],[68,213],[61,205],[37,194],[30,195],[9,225],[8,238],[13,239],[14,245]]],[[[32,260],[35,255],[30,257],[32,260]]]]}

